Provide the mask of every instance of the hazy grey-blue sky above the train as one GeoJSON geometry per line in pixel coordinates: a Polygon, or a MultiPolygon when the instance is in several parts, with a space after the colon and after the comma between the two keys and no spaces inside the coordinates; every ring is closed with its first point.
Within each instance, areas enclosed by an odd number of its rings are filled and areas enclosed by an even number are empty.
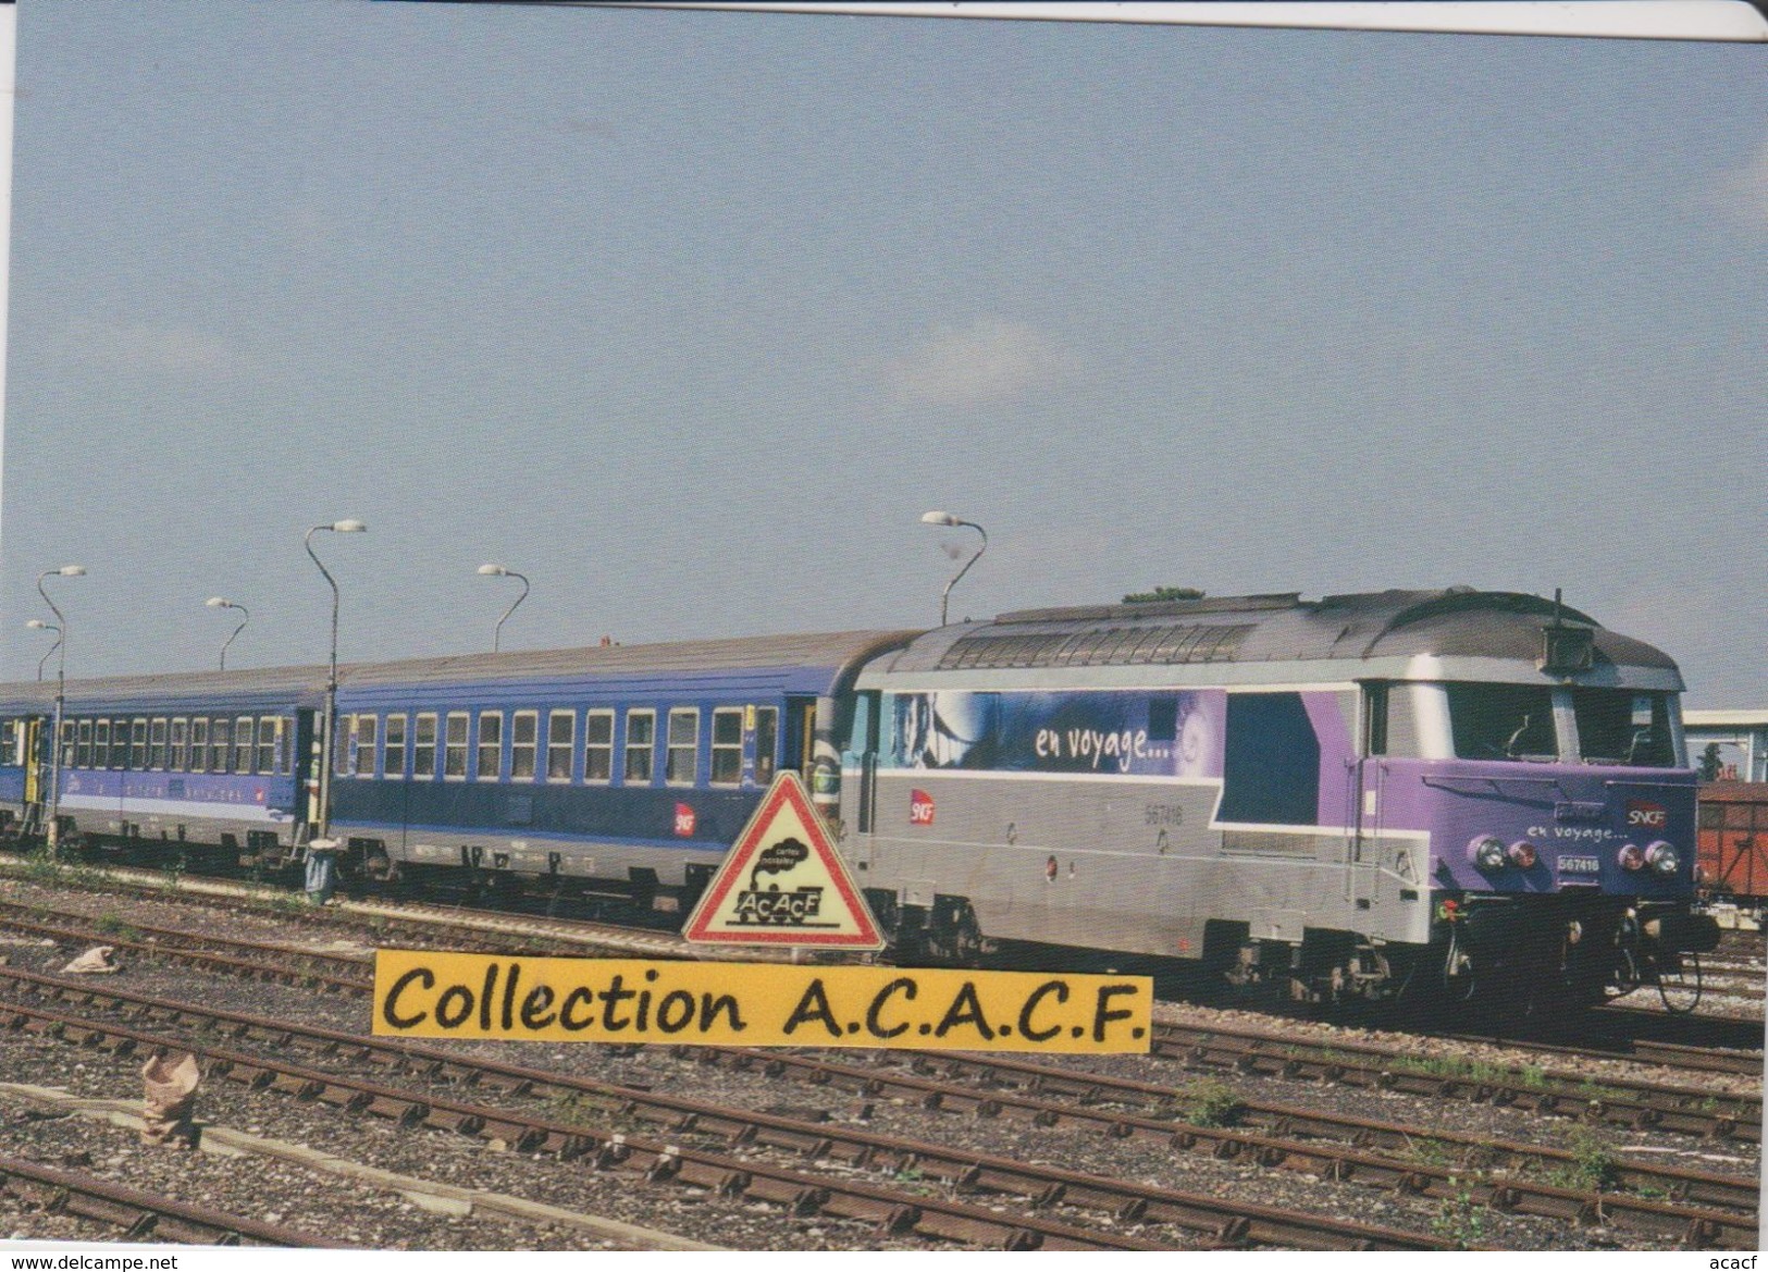
{"type": "Polygon", "coordinates": [[[1768,708],[1759,48],[23,0],[0,678],[1565,589],[1768,708]],[[53,662],[50,663],[53,674],[53,662]]]}

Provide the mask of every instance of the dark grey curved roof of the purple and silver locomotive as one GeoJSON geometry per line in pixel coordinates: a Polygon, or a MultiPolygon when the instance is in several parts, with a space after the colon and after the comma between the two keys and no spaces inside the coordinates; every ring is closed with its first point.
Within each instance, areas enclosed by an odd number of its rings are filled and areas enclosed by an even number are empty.
{"type": "MultiPolygon", "coordinates": [[[[1575,609],[1471,587],[1384,591],[1305,602],[1298,593],[1018,610],[928,632],[888,658],[891,672],[1133,667],[1176,663],[1409,662],[1542,658],[1542,630],[1593,633],[1597,667],[1664,670],[1658,649],[1575,609]]],[[[1365,672],[1367,674],[1367,672],[1365,672]]]]}

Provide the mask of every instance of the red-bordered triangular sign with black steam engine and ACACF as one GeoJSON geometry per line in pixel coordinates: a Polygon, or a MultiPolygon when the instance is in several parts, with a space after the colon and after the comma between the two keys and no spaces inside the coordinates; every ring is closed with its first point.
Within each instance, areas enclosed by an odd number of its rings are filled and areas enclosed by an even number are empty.
{"type": "Polygon", "coordinates": [[[704,945],[815,945],[882,950],[847,865],[797,773],[781,773],[688,916],[704,945]]]}

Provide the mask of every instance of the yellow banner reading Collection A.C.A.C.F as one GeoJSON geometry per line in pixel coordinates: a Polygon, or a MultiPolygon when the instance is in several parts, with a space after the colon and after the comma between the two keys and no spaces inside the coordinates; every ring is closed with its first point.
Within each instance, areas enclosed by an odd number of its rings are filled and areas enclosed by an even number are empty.
{"type": "Polygon", "coordinates": [[[375,1033],[725,1047],[1147,1051],[1155,982],[380,950],[375,1033]]]}

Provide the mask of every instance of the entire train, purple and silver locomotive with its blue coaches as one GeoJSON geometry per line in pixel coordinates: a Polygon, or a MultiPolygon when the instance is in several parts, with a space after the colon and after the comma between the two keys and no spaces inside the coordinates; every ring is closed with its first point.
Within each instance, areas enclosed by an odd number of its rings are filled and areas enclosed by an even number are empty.
{"type": "MultiPolygon", "coordinates": [[[[1598,1001],[1717,943],[1681,688],[1558,598],[1163,600],[343,667],[324,785],[361,877],[686,913],[790,768],[902,961],[1598,1001]]],[[[0,686],[0,817],[58,778],[64,844],[292,863],[324,706],[324,667],[69,681],[57,766],[0,686]]]]}

